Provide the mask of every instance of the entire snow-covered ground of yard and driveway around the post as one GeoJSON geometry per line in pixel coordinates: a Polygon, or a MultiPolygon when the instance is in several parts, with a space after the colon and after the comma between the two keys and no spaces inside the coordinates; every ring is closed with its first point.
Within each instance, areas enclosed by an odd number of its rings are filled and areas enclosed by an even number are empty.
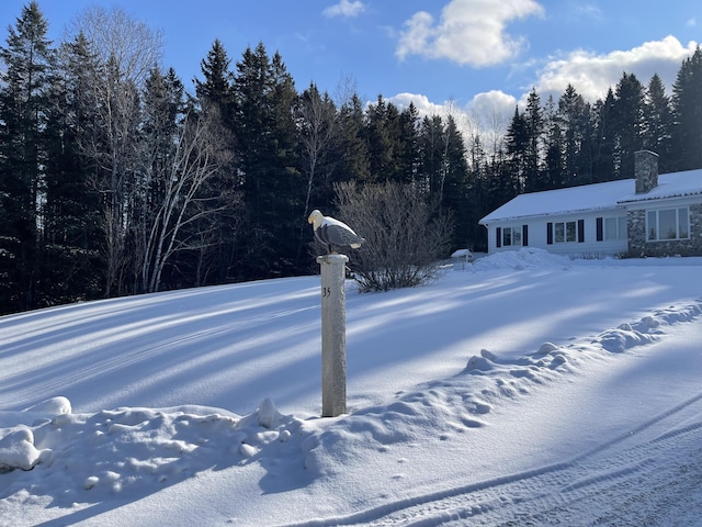
{"type": "Polygon", "coordinates": [[[534,249],[0,317],[0,525],[702,525],[702,259],[534,249]],[[31,469],[31,470],[30,470],[31,469]]]}

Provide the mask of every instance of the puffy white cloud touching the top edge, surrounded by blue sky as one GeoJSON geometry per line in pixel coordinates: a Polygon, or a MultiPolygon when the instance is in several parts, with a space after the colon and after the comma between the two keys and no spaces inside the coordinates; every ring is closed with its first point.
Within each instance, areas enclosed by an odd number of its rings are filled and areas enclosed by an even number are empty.
{"type": "Polygon", "coordinates": [[[506,32],[507,23],[542,12],[534,0],[451,0],[439,23],[426,11],[406,21],[395,53],[400,59],[421,55],[475,67],[499,64],[524,44],[506,32]]]}

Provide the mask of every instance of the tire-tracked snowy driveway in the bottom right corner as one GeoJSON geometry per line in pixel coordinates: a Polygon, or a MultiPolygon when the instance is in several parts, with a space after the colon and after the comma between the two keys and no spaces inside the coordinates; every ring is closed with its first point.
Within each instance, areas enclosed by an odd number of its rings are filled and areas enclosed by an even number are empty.
{"type": "Polygon", "coordinates": [[[702,393],[568,461],[295,525],[657,525],[671,516],[680,482],[702,482],[702,421],[679,426],[695,415],[702,393]]]}

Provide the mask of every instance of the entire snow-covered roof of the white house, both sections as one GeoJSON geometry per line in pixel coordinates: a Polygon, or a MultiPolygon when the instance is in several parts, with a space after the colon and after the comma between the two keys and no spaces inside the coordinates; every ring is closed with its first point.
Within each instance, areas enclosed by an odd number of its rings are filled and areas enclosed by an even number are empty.
{"type": "Polygon", "coordinates": [[[623,209],[625,203],[694,194],[702,194],[702,169],[661,173],[658,186],[645,194],[636,194],[634,179],[520,194],[478,223],[623,209]]]}

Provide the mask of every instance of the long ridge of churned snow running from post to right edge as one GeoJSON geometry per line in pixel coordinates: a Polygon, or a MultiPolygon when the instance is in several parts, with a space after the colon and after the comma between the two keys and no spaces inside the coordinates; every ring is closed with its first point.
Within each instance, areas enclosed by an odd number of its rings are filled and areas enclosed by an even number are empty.
{"type": "Polygon", "coordinates": [[[316,476],[342,470],[349,458],[363,451],[385,452],[399,442],[417,440],[417,431],[435,428],[439,440],[466,434],[489,424],[492,408],[528,396],[533,390],[573,373],[582,362],[612,352],[624,352],[659,338],[660,326],[680,319],[692,321],[702,312],[700,304],[671,306],[643,317],[634,324],[603,332],[587,344],[566,347],[544,343],[534,352],[500,359],[482,349],[467,360],[458,374],[437,380],[398,400],[359,410],[306,438],[302,444],[305,468],[316,476]]]}

